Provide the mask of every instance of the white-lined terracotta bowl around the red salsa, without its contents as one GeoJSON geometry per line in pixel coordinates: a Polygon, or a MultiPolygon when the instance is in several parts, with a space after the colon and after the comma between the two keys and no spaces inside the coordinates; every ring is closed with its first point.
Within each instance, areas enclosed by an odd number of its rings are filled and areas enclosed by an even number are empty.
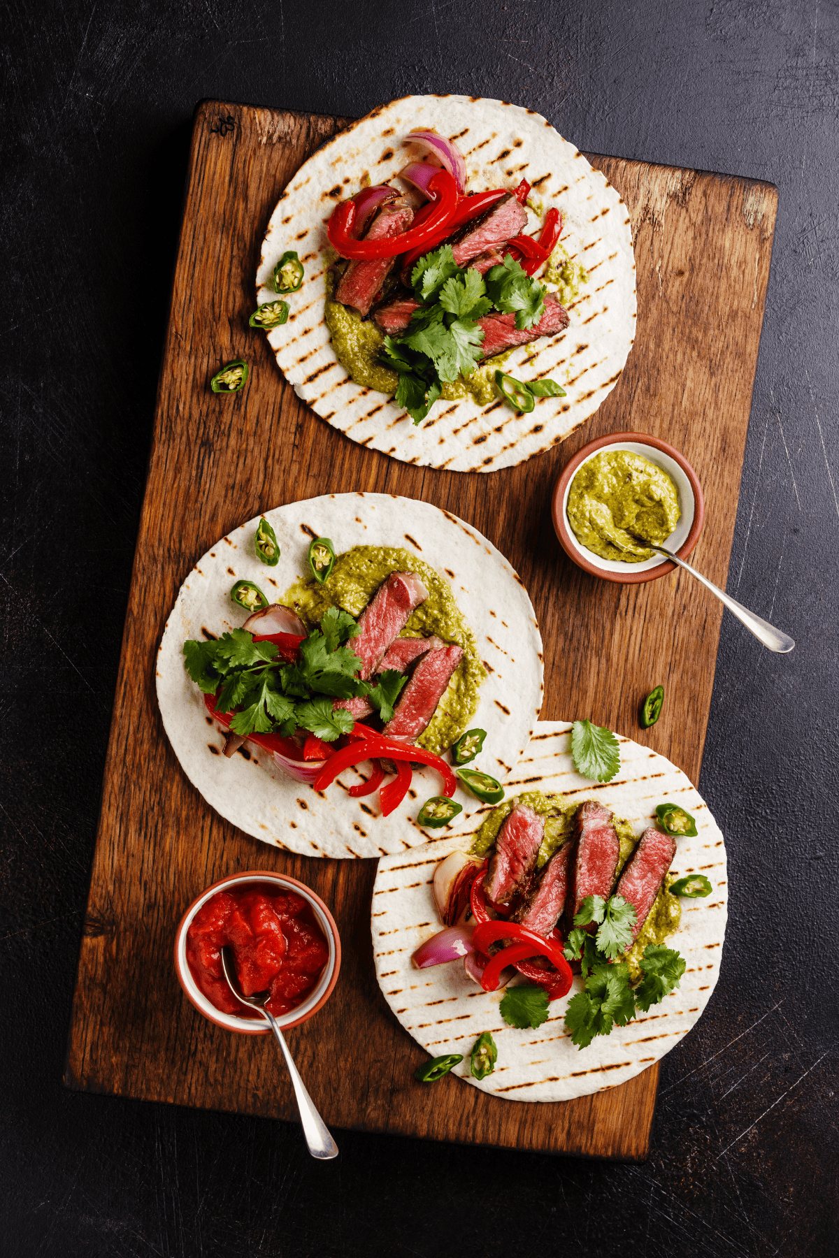
{"type": "Polygon", "coordinates": [[[281,1014],[277,1018],[278,1025],[283,1030],[289,1027],[299,1027],[301,1023],[307,1021],[312,1014],[316,1014],[318,1009],[326,1004],[332,994],[332,989],[338,981],[338,971],[341,969],[341,940],[338,937],[338,927],[335,925],[335,918],[321,897],[316,896],[314,892],[309,891],[309,888],[302,882],[298,882],[297,878],[289,878],[288,874],[284,873],[265,873],[263,869],[248,869],[245,873],[231,874],[229,878],[221,878],[219,882],[214,882],[211,887],[208,887],[200,896],[196,896],[181,917],[175,935],[175,974],[177,975],[179,982],[186,993],[187,999],[191,1000],[199,1013],[204,1014],[205,1018],[209,1018],[210,1021],[214,1021],[216,1027],[225,1027],[228,1030],[238,1030],[244,1035],[268,1035],[270,1034],[270,1027],[268,1023],[263,1023],[260,1019],[254,1018],[238,1018],[235,1014],[225,1014],[221,1013],[220,1009],[216,1009],[196,984],[186,961],[186,932],[199,908],[205,905],[211,896],[215,896],[218,891],[226,891],[229,887],[238,887],[249,882],[273,883],[281,891],[296,891],[299,896],[307,899],[314,912],[318,926],[326,935],[330,945],[330,959],[323,967],[323,974],[318,979],[317,986],[296,1009],[291,1009],[287,1014],[281,1014]]]}

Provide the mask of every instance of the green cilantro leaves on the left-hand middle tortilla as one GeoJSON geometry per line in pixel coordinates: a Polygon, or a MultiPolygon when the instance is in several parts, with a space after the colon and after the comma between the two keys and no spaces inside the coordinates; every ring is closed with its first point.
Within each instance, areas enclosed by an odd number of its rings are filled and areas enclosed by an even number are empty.
{"type": "Polygon", "coordinates": [[[302,728],[323,742],[335,742],[355,723],[350,712],[333,707],[336,698],[369,694],[375,708],[392,715],[405,683],[400,673],[390,672],[375,688],[358,678],[361,660],[346,645],[358,633],[352,616],[330,608],[319,629],[301,643],[293,664],[279,658],[273,642],[254,642],[247,629],[233,629],[210,642],[185,642],[184,667],[205,694],[216,696],[219,712],[233,712],[234,733],[278,732],[288,737],[302,728]]]}

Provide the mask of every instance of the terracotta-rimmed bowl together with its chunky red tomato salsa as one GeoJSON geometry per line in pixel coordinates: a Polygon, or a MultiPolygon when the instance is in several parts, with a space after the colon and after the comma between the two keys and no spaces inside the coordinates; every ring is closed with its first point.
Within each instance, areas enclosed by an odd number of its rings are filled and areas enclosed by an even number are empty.
{"type": "Polygon", "coordinates": [[[341,949],[332,916],[284,874],[239,874],[208,888],[184,915],[175,944],[177,976],[205,1016],[235,1030],[267,1030],[260,1014],[242,1005],[226,984],[225,945],[243,993],[269,990],[267,1009],[281,1025],[311,1016],[337,980],[341,949]]]}

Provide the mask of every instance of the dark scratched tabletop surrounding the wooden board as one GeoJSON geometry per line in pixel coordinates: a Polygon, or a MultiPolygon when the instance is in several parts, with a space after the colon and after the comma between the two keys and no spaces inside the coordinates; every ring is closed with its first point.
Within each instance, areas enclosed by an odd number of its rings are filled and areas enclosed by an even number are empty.
{"type": "Polygon", "coordinates": [[[836,4],[15,0],[1,25],[0,1253],[839,1254],[836,4]],[[60,1084],[192,108],[447,91],[780,190],[728,590],[797,647],[723,620],[722,976],[642,1166],[361,1132],[318,1166],[293,1126],[60,1084]]]}

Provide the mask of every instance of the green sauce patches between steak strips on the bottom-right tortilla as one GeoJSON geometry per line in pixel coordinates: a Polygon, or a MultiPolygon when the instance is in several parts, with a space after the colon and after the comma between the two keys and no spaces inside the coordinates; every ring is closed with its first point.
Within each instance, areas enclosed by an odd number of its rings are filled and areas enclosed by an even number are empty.
{"type": "MultiPolygon", "coordinates": [[[[498,834],[502,823],[507,816],[509,816],[516,804],[527,804],[535,813],[538,813],[540,816],[546,819],[545,837],[542,839],[542,845],[538,849],[538,858],[536,862],[536,868],[541,869],[542,866],[547,864],[553,853],[571,838],[574,833],[574,818],[577,808],[580,804],[585,804],[585,800],[579,799],[570,804],[565,795],[545,795],[541,790],[525,791],[522,795],[516,795],[513,799],[506,799],[503,804],[498,804],[497,808],[493,808],[493,810],[484,816],[478,830],[475,832],[472,847],[469,848],[472,855],[483,857],[487,854],[496,842],[496,835],[498,834]]],[[[635,847],[640,840],[640,834],[635,834],[633,823],[628,821],[623,816],[614,816],[613,824],[620,843],[616,869],[616,874],[619,874],[635,850],[635,847]]],[[[653,907],[650,908],[647,921],[638,933],[638,938],[624,957],[629,965],[631,982],[638,982],[642,977],[639,961],[644,955],[647,945],[663,944],[664,940],[669,935],[673,935],[679,927],[682,905],[678,896],[672,896],[669,893],[669,888],[674,882],[674,874],[665,876],[664,884],[653,901],[653,907]]]]}

